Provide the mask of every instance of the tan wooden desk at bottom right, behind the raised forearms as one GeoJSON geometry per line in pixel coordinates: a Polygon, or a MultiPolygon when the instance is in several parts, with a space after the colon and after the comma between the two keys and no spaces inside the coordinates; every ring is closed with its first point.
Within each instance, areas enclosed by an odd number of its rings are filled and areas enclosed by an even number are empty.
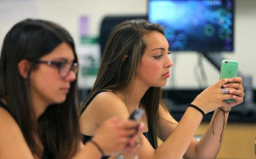
{"type": "MultiPolygon", "coordinates": [[[[202,135],[208,127],[207,122],[200,124],[195,135],[202,135]]],[[[256,123],[227,123],[223,144],[217,158],[254,159],[254,140],[256,123]]]]}

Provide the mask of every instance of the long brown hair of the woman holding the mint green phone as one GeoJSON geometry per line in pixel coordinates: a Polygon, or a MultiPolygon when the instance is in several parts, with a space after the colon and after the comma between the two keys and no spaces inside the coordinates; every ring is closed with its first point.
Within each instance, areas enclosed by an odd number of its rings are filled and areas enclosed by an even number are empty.
{"type": "MultiPolygon", "coordinates": [[[[145,19],[133,19],[116,25],[112,30],[106,49],[103,52],[99,73],[85,103],[99,90],[123,90],[137,73],[141,57],[147,48],[144,35],[149,32],[161,32],[160,25],[150,23],[145,19]],[[123,61],[123,57],[128,56],[123,61]]],[[[161,88],[150,87],[140,101],[140,106],[147,112],[148,124],[154,133],[154,144],[157,145],[159,104],[161,88]]]]}

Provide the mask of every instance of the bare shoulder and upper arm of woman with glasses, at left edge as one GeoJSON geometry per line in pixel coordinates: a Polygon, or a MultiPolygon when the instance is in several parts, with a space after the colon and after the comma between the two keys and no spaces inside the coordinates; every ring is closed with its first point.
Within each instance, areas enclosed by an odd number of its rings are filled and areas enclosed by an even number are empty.
{"type": "Polygon", "coordinates": [[[33,158],[16,120],[0,107],[0,159],[33,158]]]}

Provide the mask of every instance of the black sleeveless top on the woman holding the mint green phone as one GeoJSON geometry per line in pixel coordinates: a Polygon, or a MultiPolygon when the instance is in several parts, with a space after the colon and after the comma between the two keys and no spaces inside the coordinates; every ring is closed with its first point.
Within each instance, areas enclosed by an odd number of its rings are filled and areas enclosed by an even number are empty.
{"type": "MultiPolygon", "coordinates": [[[[102,93],[102,92],[112,92],[112,93],[115,93],[114,91],[112,90],[99,90],[98,92],[96,92],[89,100],[87,103],[85,103],[85,106],[82,107],[81,109],[81,113],[84,113],[85,112],[85,109],[88,107],[88,105],[92,102],[92,100],[95,98],[95,96],[97,96],[99,93],[102,93]]],[[[147,140],[150,142],[151,146],[154,147],[154,149],[156,149],[155,145],[154,145],[154,138],[153,138],[153,131],[151,130],[151,127],[148,126],[148,132],[144,132],[143,133],[144,136],[147,138],[147,140]]],[[[91,136],[87,136],[85,134],[83,134],[83,143],[85,144],[88,140],[90,140],[92,137],[91,136]]],[[[106,159],[108,157],[102,157],[102,159],[106,159]]]]}

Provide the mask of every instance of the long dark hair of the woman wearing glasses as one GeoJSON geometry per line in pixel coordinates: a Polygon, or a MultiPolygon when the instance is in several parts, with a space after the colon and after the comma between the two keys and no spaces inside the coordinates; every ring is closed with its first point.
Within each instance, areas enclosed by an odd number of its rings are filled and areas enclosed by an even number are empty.
{"type": "MultiPolygon", "coordinates": [[[[17,23],[5,36],[0,59],[0,99],[7,102],[13,117],[19,124],[26,143],[33,154],[42,156],[36,144],[35,134],[39,134],[43,147],[55,158],[74,155],[80,140],[78,123],[77,80],[64,103],[53,104],[36,120],[35,110],[29,95],[29,77],[22,78],[18,63],[22,59],[36,60],[53,51],[62,42],[67,42],[74,51],[74,41],[70,34],[53,22],[39,19],[26,19],[17,23]]],[[[32,64],[29,70],[36,69],[32,64]]]]}

